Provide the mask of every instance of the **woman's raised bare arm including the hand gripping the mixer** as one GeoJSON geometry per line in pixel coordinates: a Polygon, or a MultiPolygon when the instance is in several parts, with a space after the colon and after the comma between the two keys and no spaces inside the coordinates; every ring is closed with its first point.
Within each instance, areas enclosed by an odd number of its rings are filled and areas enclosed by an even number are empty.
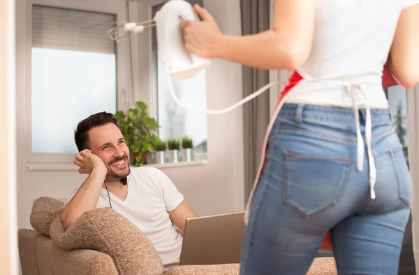
{"type": "Polygon", "coordinates": [[[214,18],[196,6],[202,22],[182,22],[185,47],[201,57],[221,58],[259,69],[295,70],[309,57],[315,0],[276,0],[273,28],[248,36],[219,33],[214,18]]]}

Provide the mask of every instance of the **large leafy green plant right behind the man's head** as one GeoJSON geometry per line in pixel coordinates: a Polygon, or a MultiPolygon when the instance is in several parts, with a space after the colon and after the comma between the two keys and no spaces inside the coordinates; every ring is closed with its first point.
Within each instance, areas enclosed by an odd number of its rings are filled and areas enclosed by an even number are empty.
{"type": "Polygon", "coordinates": [[[115,113],[115,118],[130,150],[131,162],[135,167],[146,164],[147,153],[152,153],[156,146],[159,129],[157,120],[147,113],[147,104],[138,101],[135,108],[130,108],[126,114],[122,111],[115,113]]]}

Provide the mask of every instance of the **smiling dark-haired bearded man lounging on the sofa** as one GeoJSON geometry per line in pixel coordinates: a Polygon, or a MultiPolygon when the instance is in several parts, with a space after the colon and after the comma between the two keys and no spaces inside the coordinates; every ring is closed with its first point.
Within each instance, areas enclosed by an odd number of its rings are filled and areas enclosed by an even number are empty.
{"type": "Polygon", "coordinates": [[[112,207],[152,241],[165,270],[178,265],[186,218],[196,214],[175,185],[152,167],[135,168],[131,173],[128,147],[110,113],[82,120],[74,136],[79,150],[74,164],[89,176],[61,212],[64,228],[86,211],[112,207]]]}

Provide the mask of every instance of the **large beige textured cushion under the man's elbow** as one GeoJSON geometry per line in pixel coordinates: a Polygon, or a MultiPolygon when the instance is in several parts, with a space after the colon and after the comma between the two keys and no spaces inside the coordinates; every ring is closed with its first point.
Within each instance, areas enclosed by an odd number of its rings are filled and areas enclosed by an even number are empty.
{"type": "Polygon", "coordinates": [[[64,250],[86,248],[110,255],[119,275],[163,274],[163,262],[152,242],[109,207],[83,213],[67,230],[57,216],[50,236],[64,250]]]}

